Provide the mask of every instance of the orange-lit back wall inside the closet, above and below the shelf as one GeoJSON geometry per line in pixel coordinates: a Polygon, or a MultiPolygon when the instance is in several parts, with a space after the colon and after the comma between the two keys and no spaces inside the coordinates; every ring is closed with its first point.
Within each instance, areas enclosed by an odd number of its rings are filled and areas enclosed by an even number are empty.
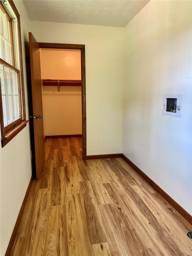
{"type": "MultiPolygon", "coordinates": [[[[81,80],[80,50],[40,49],[41,79],[81,80]]],[[[81,87],[43,86],[44,135],[82,134],[81,87]]]]}

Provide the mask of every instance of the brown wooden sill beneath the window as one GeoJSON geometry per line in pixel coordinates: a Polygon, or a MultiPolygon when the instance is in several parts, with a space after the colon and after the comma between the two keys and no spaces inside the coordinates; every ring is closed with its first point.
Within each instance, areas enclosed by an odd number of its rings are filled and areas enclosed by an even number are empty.
{"type": "Polygon", "coordinates": [[[10,141],[12,140],[23,128],[26,127],[29,120],[21,121],[19,124],[15,125],[13,128],[11,128],[9,131],[4,133],[4,136],[1,137],[1,146],[2,148],[10,141]]]}

